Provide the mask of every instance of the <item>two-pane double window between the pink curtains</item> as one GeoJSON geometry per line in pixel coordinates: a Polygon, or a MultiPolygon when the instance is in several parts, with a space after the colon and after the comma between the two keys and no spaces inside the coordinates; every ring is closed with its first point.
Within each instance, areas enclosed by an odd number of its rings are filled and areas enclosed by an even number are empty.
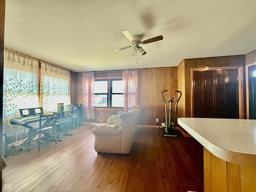
{"type": "Polygon", "coordinates": [[[96,79],[94,82],[95,108],[124,108],[124,82],[118,79],[96,79]]]}

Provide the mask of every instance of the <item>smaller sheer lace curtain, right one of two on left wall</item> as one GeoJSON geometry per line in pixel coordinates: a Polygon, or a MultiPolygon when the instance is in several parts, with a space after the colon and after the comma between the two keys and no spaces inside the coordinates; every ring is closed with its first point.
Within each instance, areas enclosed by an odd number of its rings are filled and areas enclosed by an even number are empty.
{"type": "Polygon", "coordinates": [[[56,111],[57,104],[70,105],[70,72],[41,64],[40,105],[44,111],[56,111]]]}

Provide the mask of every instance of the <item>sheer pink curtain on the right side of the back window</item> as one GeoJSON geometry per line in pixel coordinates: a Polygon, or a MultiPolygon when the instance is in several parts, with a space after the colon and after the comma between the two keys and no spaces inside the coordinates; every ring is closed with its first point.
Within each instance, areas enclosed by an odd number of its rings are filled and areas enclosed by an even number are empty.
{"type": "Polygon", "coordinates": [[[124,111],[138,104],[138,73],[137,70],[124,70],[124,111]]]}

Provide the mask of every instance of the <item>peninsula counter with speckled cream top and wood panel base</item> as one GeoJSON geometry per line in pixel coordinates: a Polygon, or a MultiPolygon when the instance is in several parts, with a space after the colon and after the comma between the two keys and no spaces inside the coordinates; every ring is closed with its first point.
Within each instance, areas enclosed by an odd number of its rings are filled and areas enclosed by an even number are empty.
{"type": "Polygon", "coordinates": [[[204,147],[204,192],[256,191],[256,120],[178,118],[204,147]]]}

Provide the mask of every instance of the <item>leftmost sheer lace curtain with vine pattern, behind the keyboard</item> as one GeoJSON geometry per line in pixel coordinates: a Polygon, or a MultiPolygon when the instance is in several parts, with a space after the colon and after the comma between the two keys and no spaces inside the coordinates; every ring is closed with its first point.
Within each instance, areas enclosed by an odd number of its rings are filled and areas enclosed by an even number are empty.
{"type": "Polygon", "coordinates": [[[38,107],[38,61],[4,50],[3,133],[24,134],[23,126],[10,124],[19,109],[38,107]]]}

